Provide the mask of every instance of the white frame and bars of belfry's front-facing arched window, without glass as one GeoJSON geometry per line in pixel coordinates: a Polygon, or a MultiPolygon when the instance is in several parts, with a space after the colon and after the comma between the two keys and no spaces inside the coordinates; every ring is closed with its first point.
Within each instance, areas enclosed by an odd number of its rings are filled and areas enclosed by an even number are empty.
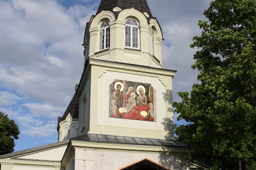
{"type": "Polygon", "coordinates": [[[125,48],[131,48],[131,49],[140,49],[140,29],[139,29],[139,23],[136,21],[136,20],[134,20],[134,19],[131,19],[131,18],[129,18],[129,19],[127,19],[127,20],[125,20],[125,28],[124,28],[124,46],[125,46],[125,48]],[[137,23],[137,25],[131,25],[131,24],[126,24],[126,22],[127,22],[127,20],[132,20],[132,21],[135,21],[136,23],[137,23]],[[130,43],[131,43],[131,45],[129,46],[129,45],[126,45],[126,27],[130,27],[130,37],[131,37],[131,41],[130,41],[130,43]],[[138,32],[137,32],[137,37],[134,37],[134,38],[137,38],[137,42],[135,42],[135,43],[137,43],[138,44],[138,47],[133,47],[133,43],[134,43],[134,41],[133,41],[133,37],[132,37],[132,33],[133,33],[133,28],[136,30],[138,30],[138,32]]]}

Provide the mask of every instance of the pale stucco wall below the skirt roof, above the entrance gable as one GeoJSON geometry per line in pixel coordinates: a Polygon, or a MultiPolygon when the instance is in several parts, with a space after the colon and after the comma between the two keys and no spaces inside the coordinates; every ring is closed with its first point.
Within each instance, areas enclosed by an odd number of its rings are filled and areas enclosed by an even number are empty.
{"type": "Polygon", "coordinates": [[[190,166],[190,163],[183,159],[186,153],[182,152],[173,152],[170,155],[159,151],[87,148],[76,149],[75,155],[75,170],[116,170],[145,158],[173,170],[187,170],[190,166]]]}

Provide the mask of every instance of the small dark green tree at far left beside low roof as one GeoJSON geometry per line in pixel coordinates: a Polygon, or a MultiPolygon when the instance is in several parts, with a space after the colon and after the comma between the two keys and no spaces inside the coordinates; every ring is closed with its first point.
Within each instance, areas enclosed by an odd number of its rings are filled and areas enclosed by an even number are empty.
{"type": "Polygon", "coordinates": [[[18,139],[19,127],[8,115],[0,112],[0,155],[14,151],[14,139],[18,139]]]}

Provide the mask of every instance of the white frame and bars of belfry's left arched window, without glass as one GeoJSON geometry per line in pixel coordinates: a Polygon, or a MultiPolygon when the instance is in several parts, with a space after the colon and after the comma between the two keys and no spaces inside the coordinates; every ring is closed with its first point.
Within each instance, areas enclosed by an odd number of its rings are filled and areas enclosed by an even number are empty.
{"type": "Polygon", "coordinates": [[[100,31],[99,31],[99,51],[105,50],[105,49],[109,49],[110,47],[110,27],[109,27],[109,21],[103,21],[100,24],[100,31]],[[102,27],[101,25],[107,24],[107,26],[102,27]],[[102,47],[102,32],[103,31],[103,47],[102,47]],[[107,34],[108,31],[108,34],[107,34]],[[108,36],[108,37],[107,37],[108,36]],[[106,40],[108,39],[108,43],[106,43],[106,40]]]}

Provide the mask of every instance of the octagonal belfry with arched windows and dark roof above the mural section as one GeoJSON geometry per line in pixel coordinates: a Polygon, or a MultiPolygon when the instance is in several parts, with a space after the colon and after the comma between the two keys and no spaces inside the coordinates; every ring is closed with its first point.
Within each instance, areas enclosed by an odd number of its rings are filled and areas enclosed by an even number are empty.
{"type": "Polygon", "coordinates": [[[87,23],[84,56],[162,68],[162,30],[147,1],[101,1],[87,23]]]}

